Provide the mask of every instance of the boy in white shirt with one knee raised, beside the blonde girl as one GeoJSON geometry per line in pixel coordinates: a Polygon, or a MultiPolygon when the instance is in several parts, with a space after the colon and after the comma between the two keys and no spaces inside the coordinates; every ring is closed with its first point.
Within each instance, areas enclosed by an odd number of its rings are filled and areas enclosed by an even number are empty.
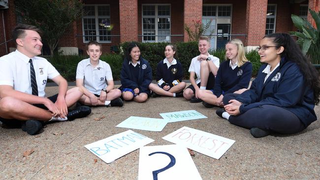
{"type": "Polygon", "coordinates": [[[215,85],[215,76],[217,75],[220,60],[217,57],[209,55],[210,40],[208,37],[201,36],[199,38],[199,52],[200,55],[191,60],[189,67],[191,85],[187,87],[183,96],[190,100],[190,102],[198,103],[199,90],[212,90],[215,85]],[[200,71],[201,69],[201,71],[200,71]],[[197,77],[194,80],[195,75],[197,77]]]}

